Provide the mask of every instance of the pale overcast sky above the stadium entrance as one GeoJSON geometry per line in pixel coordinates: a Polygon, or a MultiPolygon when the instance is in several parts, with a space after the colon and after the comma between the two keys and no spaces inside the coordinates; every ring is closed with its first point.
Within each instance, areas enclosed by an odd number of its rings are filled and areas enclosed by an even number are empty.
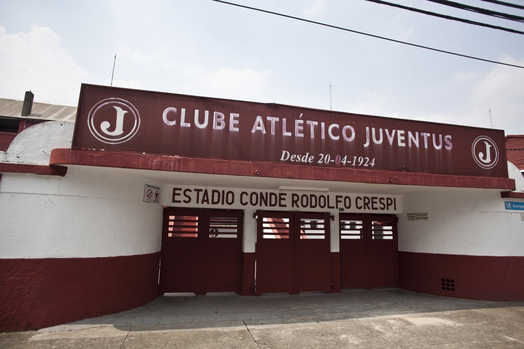
{"type": "MultiPolygon", "coordinates": [[[[463,4],[524,16],[480,0],[463,4]]],[[[506,0],[522,4],[521,0],[506,0]]],[[[231,0],[417,45],[524,66],[524,35],[365,0],[231,0]]],[[[524,31],[426,0],[390,0],[524,31]]],[[[0,0],[0,97],[78,103],[81,83],[275,102],[524,134],[524,69],[211,0],[0,0]]]]}

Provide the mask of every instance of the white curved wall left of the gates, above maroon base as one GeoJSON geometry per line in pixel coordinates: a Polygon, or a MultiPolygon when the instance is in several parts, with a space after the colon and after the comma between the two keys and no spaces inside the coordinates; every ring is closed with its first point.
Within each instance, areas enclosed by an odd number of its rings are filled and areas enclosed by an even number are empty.
{"type": "Polygon", "coordinates": [[[153,180],[115,169],[67,176],[5,173],[0,181],[0,258],[139,255],[160,250],[162,206],[143,201],[153,180]]]}

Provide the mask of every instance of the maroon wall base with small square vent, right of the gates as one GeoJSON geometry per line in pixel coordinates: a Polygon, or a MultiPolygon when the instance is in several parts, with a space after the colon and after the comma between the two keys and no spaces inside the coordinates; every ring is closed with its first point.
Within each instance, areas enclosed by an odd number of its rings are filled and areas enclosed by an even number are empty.
{"type": "MultiPolygon", "coordinates": [[[[430,295],[524,301],[524,257],[399,252],[401,287],[430,295]],[[453,280],[454,291],[442,289],[453,280]]],[[[451,286],[451,285],[450,285],[451,286]]]]}

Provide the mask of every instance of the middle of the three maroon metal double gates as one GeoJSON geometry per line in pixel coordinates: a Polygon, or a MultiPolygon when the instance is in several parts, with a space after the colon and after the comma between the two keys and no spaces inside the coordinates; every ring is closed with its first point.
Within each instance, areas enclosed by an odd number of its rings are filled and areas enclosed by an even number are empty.
{"type": "Polygon", "coordinates": [[[255,295],[331,292],[329,213],[257,211],[255,295]]]}

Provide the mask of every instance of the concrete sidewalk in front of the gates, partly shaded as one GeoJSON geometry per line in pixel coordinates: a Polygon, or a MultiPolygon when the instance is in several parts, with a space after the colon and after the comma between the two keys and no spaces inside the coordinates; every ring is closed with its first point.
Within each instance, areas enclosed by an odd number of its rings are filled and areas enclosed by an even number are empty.
{"type": "Polygon", "coordinates": [[[524,302],[402,289],[165,295],[127,312],[0,334],[0,348],[524,348],[524,302]]]}

